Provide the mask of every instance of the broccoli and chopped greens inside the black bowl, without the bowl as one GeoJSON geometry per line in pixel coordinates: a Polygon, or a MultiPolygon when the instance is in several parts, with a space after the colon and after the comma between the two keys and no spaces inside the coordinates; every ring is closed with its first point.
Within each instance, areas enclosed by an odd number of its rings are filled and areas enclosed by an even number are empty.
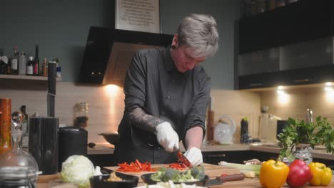
{"type": "Polygon", "coordinates": [[[177,169],[161,168],[158,172],[151,175],[151,179],[156,182],[195,182],[204,179],[204,168],[193,167],[186,172],[179,172],[177,169]]]}

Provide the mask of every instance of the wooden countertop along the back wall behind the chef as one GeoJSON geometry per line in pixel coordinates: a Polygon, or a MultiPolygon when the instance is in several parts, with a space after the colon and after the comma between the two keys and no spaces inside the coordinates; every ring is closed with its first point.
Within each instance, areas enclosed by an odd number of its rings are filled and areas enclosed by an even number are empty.
{"type": "MultiPolygon", "coordinates": [[[[88,147],[88,155],[103,155],[113,154],[113,145],[98,144],[94,148],[88,147]]],[[[180,145],[180,150],[185,152],[183,145],[180,145]]],[[[229,152],[229,151],[258,151],[279,153],[280,148],[265,145],[250,145],[250,144],[233,144],[233,145],[202,145],[202,152],[229,152]]],[[[326,152],[322,147],[315,147],[312,151],[313,158],[323,160],[334,160],[334,155],[326,152]]]]}

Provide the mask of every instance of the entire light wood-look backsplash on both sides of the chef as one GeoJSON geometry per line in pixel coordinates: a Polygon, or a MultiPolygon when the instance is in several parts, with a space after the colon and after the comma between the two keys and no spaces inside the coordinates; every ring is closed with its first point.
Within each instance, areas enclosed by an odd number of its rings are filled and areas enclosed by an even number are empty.
{"type": "MultiPolygon", "coordinates": [[[[46,82],[11,80],[5,84],[0,80],[0,98],[11,98],[12,109],[26,105],[29,115],[37,112],[46,115],[46,82]]],[[[258,137],[260,124],[260,106],[268,105],[269,112],[282,117],[305,118],[306,108],[313,110],[313,116],[323,115],[334,122],[334,103],[326,103],[323,91],[318,88],[289,90],[290,102],[285,105],[277,103],[275,91],[254,92],[246,90],[212,90],[214,99],[214,124],[221,115],[228,115],[236,122],[234,142],[239,142],[241,119],[248,117],[249,133],[258,137]]],[[[73,125],[74,105],[88,103],[88,142],[106,143],[101,132],[117,130],[124,110],[123,88],[116,85],[76,85],[58,82],[56,86],[56,116],[61,125],[73,125]]],[[[226,120],[227,121],[227,120],[226,120]]],[[[210,127],[208,127],[210,128],[210,127]]],[[[213,128],[213,127],[212,127],[213,128]]]]}

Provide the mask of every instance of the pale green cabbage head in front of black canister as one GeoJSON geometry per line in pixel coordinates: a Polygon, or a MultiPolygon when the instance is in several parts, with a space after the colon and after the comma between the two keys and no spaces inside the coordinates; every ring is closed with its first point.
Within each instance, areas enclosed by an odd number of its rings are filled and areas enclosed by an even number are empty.
{"type": "Polygon", "coordinates": [[[79,188],[89,187],[89,177],[95,172],[93,163],[83,155],[72,155],[61,166],[61,179],[77,184],[79,188]]]}

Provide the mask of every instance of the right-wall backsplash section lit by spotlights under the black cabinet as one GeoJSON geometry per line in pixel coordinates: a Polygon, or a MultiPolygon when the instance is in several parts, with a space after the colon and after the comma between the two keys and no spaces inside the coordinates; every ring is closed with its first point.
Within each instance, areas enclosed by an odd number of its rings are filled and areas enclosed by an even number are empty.
{"type": "Polygon", "coordinates": [[[268,113],[284,120],[288,120],[288,117],[305,120],[307,109],[310,108],[313,120],[321,115],[334,125],[334,92],[326,92],[321,86],[285,90],[285,101],[280,101],[276,90],[262,91],[259,94],[261,106],[268,106],[268,113]]]}

